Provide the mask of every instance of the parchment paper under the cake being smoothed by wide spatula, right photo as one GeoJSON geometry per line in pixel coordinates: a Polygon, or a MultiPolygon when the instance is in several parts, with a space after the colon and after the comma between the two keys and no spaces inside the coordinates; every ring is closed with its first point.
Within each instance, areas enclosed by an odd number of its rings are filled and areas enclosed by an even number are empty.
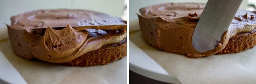
{"type": "Polygon", "coordinates": [[[182,84],[255,84],[256,48],[238,54],[189,58],[157,50],[145,43],[138,21],[130,21],[130,41],[182,84]]]}

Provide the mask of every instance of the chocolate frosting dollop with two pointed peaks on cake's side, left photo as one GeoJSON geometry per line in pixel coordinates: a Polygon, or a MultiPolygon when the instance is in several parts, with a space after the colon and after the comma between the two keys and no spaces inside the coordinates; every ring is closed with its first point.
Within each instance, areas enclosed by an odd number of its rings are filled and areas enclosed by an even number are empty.
{"type": "Polygon", "coordinates": [[[79,32],[69,24],[62,30],[48,27],[39,45],[32,48],[32,54],[41,60],[66,60],[83,45],[87,36],[88,32],[79,32]]]}

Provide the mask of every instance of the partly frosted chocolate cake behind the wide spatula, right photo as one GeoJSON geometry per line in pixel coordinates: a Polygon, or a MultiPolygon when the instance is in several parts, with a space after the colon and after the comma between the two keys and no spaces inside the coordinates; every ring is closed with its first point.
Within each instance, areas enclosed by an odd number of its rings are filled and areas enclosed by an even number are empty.
{"type": "Polygon", "coordinates": [[[256,12],[238,10],[218,46],[203,53],[195,50],[192,35],[205,5],[166,3],[141,8],[138,17],[143,38],[159,50],[197,58],[239,53],[256,44],[256,12]]]}

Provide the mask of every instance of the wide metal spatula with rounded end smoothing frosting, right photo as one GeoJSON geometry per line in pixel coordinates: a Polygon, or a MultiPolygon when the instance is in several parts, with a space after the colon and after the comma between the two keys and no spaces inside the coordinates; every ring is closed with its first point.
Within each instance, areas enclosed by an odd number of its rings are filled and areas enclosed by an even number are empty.
{"type": "Polygon", "coordinates": [[[208,0],[192,37],[198,52],[215,48],[233,20],[242,0],[208,0]]]}

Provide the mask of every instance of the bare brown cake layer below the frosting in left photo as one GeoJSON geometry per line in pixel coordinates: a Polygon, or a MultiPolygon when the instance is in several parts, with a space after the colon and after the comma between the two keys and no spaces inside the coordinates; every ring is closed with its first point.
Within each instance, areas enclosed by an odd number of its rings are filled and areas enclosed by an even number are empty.
{"type": "Polygon", "coordinates": [[[116,44],[102,46],[100,49],[88,52],[82,56],[67,62],[54,63],[64,66],[94,66],[105,65],[115,60],[121,59],[126,55],[126,39],[116,44]]]}

